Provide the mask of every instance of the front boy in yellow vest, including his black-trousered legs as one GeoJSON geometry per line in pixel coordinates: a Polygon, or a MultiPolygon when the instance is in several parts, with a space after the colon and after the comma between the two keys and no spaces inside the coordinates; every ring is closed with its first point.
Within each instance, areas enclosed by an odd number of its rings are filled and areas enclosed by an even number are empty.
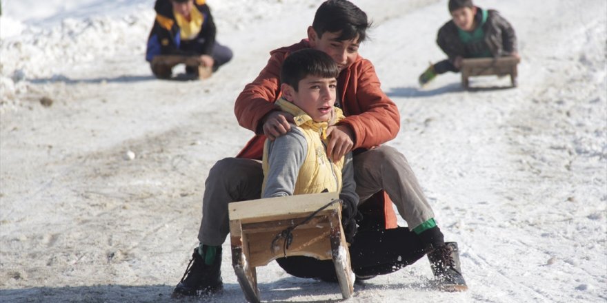
{"type": "MultiPolygon", "coordinates": [[[[344,201],[341,224],[350,243],[352,270],[356,279],[385,275],[416,262],[426,247],[406,227],[364,230],[357,233],[357,205],[352,153],[334,161],[327,153],[327,129],[345,118],[335,107],[339,67],[325,52],[305,48],[292,52],[280,71],[282,96],[276,101],[283,112],[293,116],[291,131],[263,146],[262,198],[339,192],[344,201]]],[[[381,165],[382,163],[377,163],[381,165]]],[[[299,278],[337,281],[332,261],[304,256],[277,259],[287,273],[299,278]]],[[[458,260],[459,263],[459,260],[458,260]]],[[[459,267],[459,265],[458,265],[459,267]]],[[[459,290],[464,278],[452,274],[459,290]]]]}

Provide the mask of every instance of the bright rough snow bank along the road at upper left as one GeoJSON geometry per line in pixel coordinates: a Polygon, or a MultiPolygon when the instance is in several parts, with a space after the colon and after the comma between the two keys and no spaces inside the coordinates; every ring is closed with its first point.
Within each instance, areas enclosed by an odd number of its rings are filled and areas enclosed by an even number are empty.
{"type": "Polygon", "coordinates": [[[30,81],[61,81],[74,66],[144,52],[153,17],[153,10],[145,10],[117,18],[66,18],[49,27],[1,17],[10,30],[0,41],[0,110],[16,108],[30,81]]]}

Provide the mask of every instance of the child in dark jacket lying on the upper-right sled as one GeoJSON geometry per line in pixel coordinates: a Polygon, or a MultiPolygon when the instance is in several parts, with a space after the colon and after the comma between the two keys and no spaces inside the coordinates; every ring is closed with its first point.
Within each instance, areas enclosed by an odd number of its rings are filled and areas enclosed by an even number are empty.
{"type": "Polygon", "coordinates": [[[440,28],[437,37],[437,44],[448,59],[430,65],[419,76],[419,85],[426,85],[438,74],[459,72],[462,59],[520,59],[515,30],[496,10],[481,9],[472,0],[449,0],[448,6],[452,19],[440,28]]]}

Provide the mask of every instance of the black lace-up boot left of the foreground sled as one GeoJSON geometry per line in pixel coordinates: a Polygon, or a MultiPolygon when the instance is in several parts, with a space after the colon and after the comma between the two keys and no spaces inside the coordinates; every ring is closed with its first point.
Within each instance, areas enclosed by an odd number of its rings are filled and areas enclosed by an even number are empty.
{"type": "Polygon", "coordinates": [[[223,290],[223,281],[221,280],[221,247],[217,248],[215,261],[207,265],[204,259],[194,249],[192,260],[183,273],[183,278],[175,287],[171,297],[179,298],[193,295],[210,295],[223,290]]]}

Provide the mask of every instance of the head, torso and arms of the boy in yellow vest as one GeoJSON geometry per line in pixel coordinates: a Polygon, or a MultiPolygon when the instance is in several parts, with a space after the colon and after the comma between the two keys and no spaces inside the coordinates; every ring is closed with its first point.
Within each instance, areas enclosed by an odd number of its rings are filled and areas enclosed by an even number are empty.
{"type": "Polygon", "coordinates": [[[327,129],[345,118],[335,107],[339,68],[328,54],[311,48],[293,52],[281,68],[282,96],[276,101],[292,114],[291,132],[263,146],[262,198],[339,192],[344,201],[346,240],[356,231],[359,202],[352,154],[334,161],[327,155],[327,129]]]}

